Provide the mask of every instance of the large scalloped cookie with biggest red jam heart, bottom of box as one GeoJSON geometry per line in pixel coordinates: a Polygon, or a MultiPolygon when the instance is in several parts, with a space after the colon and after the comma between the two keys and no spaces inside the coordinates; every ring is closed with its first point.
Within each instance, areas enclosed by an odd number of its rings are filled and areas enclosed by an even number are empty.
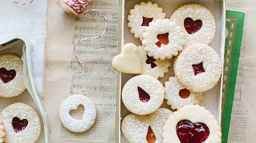
{"type": "Polygon", "coordinates": [[[186,105],[173,112],[163,127],[163,143],[221,143],[221,128],[204,107],[186,105]]]}

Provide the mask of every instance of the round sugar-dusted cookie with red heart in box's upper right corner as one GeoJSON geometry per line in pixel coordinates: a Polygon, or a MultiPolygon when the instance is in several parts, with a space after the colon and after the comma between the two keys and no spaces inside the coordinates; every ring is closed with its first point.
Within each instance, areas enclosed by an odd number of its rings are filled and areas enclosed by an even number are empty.
{"type": "Polygon", "coordinates": [[[209,45],[215,36],[215,19],[211,12],[200,4],[186,4],[173,12],[170,21],[181,27],[184,46],[195,43],[209,45]]]}

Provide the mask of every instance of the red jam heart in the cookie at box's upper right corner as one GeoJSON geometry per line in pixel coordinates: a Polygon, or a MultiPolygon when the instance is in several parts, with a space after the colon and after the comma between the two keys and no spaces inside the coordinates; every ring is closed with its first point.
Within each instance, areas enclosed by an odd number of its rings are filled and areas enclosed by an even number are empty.
{"type": "Polygon", "coordinates": [[[188,34],[196,33],[199,29],[201,29],[203,23],[200,19],[193,21],[192,18],[185,18],[184,19],[184,27],[188,34]]]}

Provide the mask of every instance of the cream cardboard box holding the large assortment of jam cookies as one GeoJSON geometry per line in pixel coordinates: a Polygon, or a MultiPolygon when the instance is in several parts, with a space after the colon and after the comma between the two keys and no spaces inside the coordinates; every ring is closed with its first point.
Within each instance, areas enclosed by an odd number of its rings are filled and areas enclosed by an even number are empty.
{"type": "MultiPolygon", "coordinates": [[[[139,4],[143,0],[119,0],[119,30],[118,33],[118,54],[120,54],[121,47],[125,43],[134,43],[136,46],[142,45],[139,39],[134,38],[133,34],[130,32],[130,28],[127,26],[127,17],[129,11],[135,4],[139,4]],[[122,14],[122,15],[121,15],[122,14]]],[[[216,32],[215,37],[212,40],[210,46],[217,52],[218,56],[222,61],[224,61],[224,50],[225,50],[225,22],[226,22],[226,9],[225,9],[225,0],[151,0],[152,3],[157,3],[159,7],[163,8],[163,11],[166,13],[166,18],[169,18],[174,10],[184,4],[201,4],[207,7],[213,16],[215,17],[216,22],[216,32]]],[[[173,58],[174,59],[174,58],[173,58]]],[[[159,81],[163,84],[164,81],[168,80],[169,76],[173,76],[173,60],[172,66],[169,68],[169,72],[159,81]]],[[[223,70],[222,70],[223,75],[223,70]]],[[[119,136],[116,137],[116,141],[119,143],[128,143],[128,141],[124,138],[120,124],[122,118],[124,118],[127,114],[130,114],[121,99],[121,89],[124,84],[131,79],[132,74],[117,74],[117,129],[116,132],[119,136]]],[[[203,100],[200,102],[200,106],[205,107],[207,110],[211,112],[221,125],[221,105],[222,105],[222,80],[223,77],[220,78],[218,84],[211,90],[203,93],[203,100]]],[[[166,104],[166,100],[164,100],[161,107],[166,107],[171,109],[169,105],[166,104]]]]}

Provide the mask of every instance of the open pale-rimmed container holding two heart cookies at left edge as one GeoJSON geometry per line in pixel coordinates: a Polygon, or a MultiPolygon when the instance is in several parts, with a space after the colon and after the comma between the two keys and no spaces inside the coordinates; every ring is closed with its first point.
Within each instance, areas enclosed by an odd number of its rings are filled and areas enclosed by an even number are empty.
{"type": "Polygon", "coordinates": [[[49,143],[49,128],[46,118],[46,111],[44,108],[44,102],[41,94],[38,92],[34,84],[34,77],[31,67],[31,45],[26,39],[14,38],[5,43],[0,43],[0,54],[16,54],[19,55],[23,60],[23,73],[24,73],[24,84],[26,90],[17,97],[3,98],[0,97],[0,111],[10,104],[16,102],[23,102],[30,104],[35,107],[41,114],[44,132],[36,143],[49,143]]]}

